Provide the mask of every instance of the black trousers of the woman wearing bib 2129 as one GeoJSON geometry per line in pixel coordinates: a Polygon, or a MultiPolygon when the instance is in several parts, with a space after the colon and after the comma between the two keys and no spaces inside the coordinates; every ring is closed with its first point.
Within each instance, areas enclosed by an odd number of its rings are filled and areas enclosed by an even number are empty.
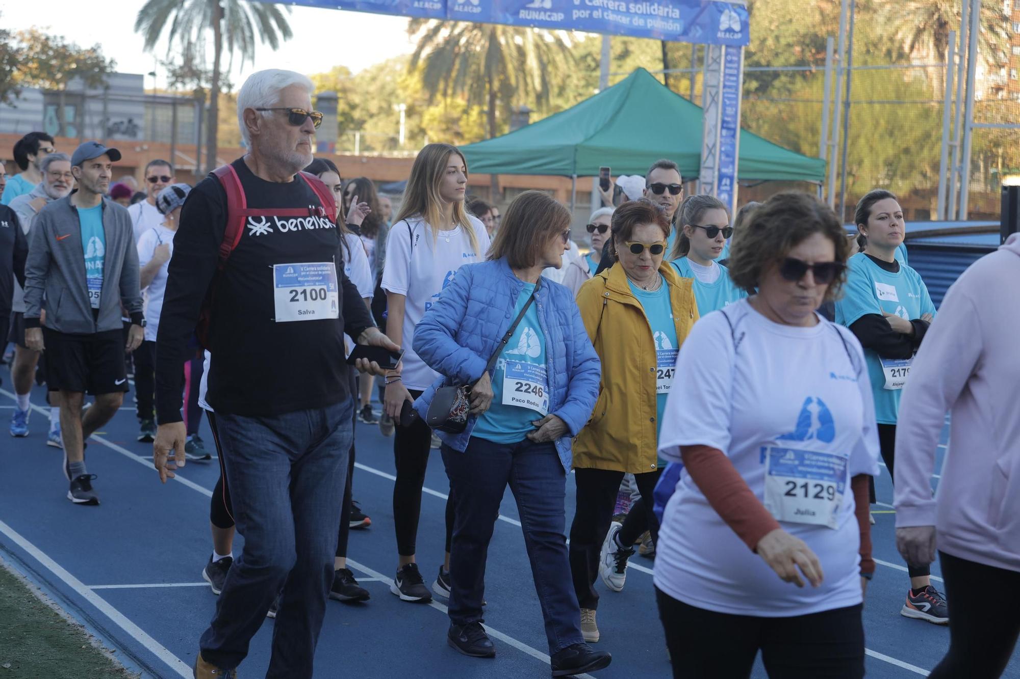
{"type": "Polygon", "coordinates": [[[687,606],[658,587],[655,596],[674,679],[745,679],[759,650],[769,679],[864,676],[860,604],[789,618],[758,618],[687,606]]]}

